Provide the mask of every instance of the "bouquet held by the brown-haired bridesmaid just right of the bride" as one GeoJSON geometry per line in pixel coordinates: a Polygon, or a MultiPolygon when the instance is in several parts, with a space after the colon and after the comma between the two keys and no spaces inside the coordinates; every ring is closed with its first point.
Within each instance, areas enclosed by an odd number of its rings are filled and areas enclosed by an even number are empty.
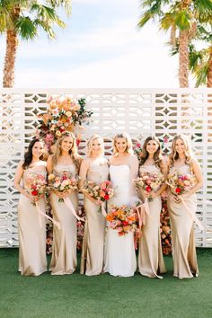
{"type": "MultiPolygon", "coordinates": [[[[142,189],[149,194],[152,191],[159,189],[163,183],[164,178],[162,173],[148,173],[142,172],[140,177],[134,180],[134,183],[138,189],[142,189]]],[[[148,201],[152,201],[151,197],[148,198],[148,201]]]]}

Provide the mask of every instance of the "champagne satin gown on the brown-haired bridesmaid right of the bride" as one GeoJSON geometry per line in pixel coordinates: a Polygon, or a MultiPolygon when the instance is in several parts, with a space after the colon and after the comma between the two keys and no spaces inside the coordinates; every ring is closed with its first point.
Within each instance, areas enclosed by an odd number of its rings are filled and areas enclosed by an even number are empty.
{"type": "MultiPolygon", "coordinates": [[[[139,172],[160,173],[155,164],[142,165],[139,172]]],[[[142,194],[140,194],[140,199],[142,194]]],[[[148,202],[149,216],[146,215],[146,225],[142,227],[142,234],[138,250],[138,269],[141,275],[149,278],[163,278],[159,273],[165,273],[163,261],[161,234],[160,234],[160,213],[162,201],[160,197],[148,202]]]]}

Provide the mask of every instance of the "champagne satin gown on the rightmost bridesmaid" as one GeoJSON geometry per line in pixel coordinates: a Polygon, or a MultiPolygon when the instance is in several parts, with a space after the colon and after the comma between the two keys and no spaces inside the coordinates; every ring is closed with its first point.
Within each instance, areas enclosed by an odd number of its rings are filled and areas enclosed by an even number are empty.
{"type": "MultiPolygon", "coordinates": [[[[181,175],[190,174],[190,165],[183,164],[179,168],[173,167],[170,172],[178,171],[181,175]]],[[[169,191],[168,209],[172,230],[172,258],[173,276],[177,278],[192,278],[199,275],[197,253],[194,239],[194,222],[188,212],[189,208],[194,213],[197,210],[196,194],[184,199],[183,203],[175,203],[169,191]]]]}

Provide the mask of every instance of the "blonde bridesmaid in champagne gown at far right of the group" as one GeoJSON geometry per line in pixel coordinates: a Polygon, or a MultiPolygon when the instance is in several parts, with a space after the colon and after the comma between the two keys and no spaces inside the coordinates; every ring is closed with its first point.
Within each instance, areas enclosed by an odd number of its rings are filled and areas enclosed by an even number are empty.
{"type": "Polygon", "coordinates": [[[197,159],[191,155],[189,142],[184,135],[177,135],[172,140],[169,168],[171,173],[194,174],[197,180],[190,190],[180,196],[174,196],[171,190],[169,190],[168,195],[172,226],[173,276],[193,278],[193,276],[199,275],[194,241],[194,219],[190,216],[185,205],[195,215],[197,209],[195,192],[202,186],[202,173],[197,159]]]}

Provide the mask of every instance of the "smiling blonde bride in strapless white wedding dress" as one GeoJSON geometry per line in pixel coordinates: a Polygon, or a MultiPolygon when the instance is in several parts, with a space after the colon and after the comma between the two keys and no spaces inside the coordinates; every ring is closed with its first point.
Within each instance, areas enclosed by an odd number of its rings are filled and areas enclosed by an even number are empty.
{"type": "MultiPolygon", "coordinates": [[[[110,159],[110,180],[115,196],[110,204],[128,205],[135,197],[132,180],[137,178],[138,160],[133,155],[132,141],[127,133],[114,137],[113,156],[110,159]]],[[[104,271],[112,276],[133,276],[137,269],[133,233],[119,236],[116,230],[108,228],[105,244],[104,271]]]]}

